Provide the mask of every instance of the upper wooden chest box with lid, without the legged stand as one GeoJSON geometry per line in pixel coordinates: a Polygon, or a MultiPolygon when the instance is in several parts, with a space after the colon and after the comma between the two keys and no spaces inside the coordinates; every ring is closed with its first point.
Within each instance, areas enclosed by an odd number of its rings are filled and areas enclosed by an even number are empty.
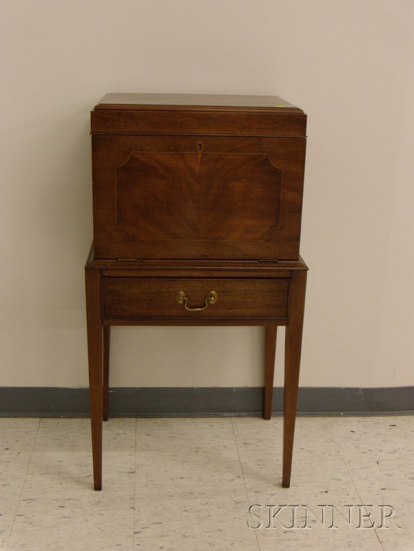
{"type": "Polygon", "coordinates": [[[305,127],[280,98],[107,94],[95,258],[298,260],[305,127]]]}

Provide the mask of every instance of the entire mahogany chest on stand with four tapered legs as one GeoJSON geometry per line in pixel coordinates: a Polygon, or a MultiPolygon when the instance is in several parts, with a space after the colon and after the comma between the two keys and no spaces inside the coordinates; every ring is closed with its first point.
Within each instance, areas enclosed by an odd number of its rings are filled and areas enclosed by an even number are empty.
{"type": "Polygon", "coordinates": [[[299,254],[306,121],[276,96],[107,94],[92,111],[85,278],[95,490],[112,325],[265,326],[265,419],[276,331],[286,326],[289,487],[307,276],[299,254]]]}

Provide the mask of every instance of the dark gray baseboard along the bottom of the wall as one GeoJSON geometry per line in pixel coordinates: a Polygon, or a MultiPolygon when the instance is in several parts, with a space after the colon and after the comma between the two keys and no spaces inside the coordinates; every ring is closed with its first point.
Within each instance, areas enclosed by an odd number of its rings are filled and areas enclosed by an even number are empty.
{"type": "MultiPolygon", "coordinates": [[[[273,389],[282,413],[283,389],[273,389]]],[[[111,388],[110,417],[225,417],[262,415],[263,388],[111,388]]],[[[414,413],[414,386],[301,387],[298,415],[414,413]]],[[[87,388],[0,387],[0,417],[87,417],[87,388]]]]}

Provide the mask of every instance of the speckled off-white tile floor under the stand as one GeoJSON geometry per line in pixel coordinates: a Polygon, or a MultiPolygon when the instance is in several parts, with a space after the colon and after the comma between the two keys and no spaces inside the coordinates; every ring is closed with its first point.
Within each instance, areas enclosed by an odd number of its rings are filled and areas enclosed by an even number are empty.
{"type": "Polygon", "coordinates": [[[414,417],[0,419],[1,551],[414,551],[414,417]]]}

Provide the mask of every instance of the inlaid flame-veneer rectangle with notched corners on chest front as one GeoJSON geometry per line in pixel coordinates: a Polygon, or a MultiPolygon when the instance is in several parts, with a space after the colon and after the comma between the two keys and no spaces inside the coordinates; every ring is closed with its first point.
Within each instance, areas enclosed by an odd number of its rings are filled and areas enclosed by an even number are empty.
{"type": "Polygon", "coordinates": [[[131,240],[263,240],[282,171],[266,154],[132,152],[116,167],[116,225],[131,240]]]}

